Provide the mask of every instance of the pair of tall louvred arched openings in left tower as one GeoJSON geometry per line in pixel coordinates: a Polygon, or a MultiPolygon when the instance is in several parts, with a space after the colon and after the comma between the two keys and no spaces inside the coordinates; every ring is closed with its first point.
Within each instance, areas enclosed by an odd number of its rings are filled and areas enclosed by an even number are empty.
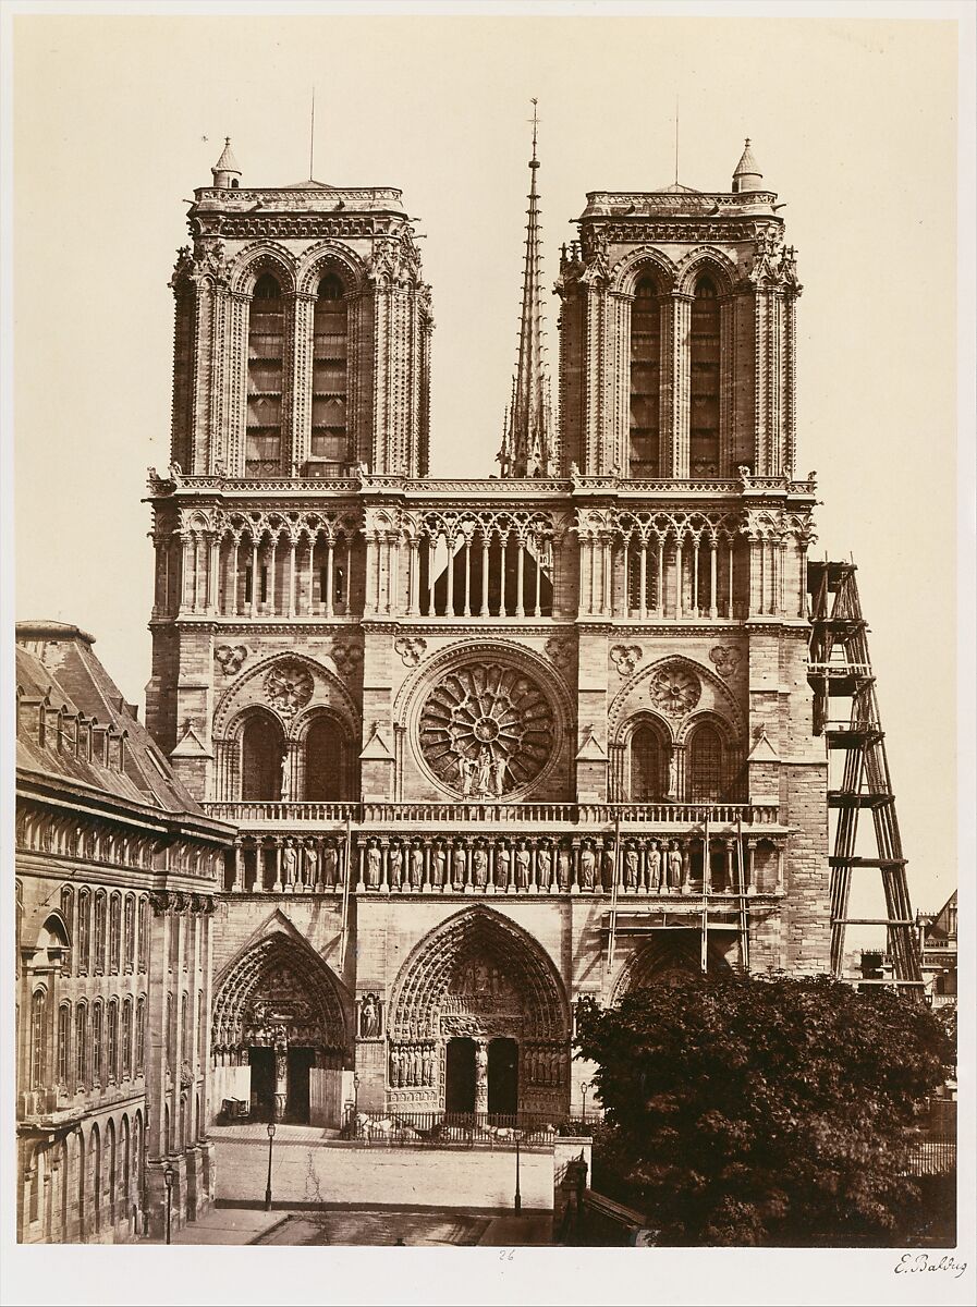
{"type": "MultiPolygon", "coordinates": [[[[342,282],[328,273],[319,282],[312,315],[312,439],[310,461],[340,472],[350,459],[346,403],[349,315],[342,282]]],[[[263,273],[248,319],[248,397],[244,474],[277,476],[285,452],[283,405],[286,312],[282,288],[263,273]]]]}

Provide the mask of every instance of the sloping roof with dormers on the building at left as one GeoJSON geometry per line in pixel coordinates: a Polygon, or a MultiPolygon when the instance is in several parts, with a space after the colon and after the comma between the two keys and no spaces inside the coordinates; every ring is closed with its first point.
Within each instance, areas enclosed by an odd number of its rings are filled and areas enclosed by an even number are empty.
{"type": "Polygon", "coordinates": [[[159,808],[167,813],[204,817],[204,810],[176,779],[168,762],[138,721],[133,704],[95,656],[94,638],[65,622],[17,623],[17,771],[60,783],[91,787],[114,799],[159,808]],[[39,706],[78,725],[94,724],[110,735],[124,736],[119,758],[107,761],[94,750],[74,748],[77,727],[71,732],[44,731],[42,744],[37,714],[39,706]],[[65,740],[68,741],[65,744],[65,740]]]}

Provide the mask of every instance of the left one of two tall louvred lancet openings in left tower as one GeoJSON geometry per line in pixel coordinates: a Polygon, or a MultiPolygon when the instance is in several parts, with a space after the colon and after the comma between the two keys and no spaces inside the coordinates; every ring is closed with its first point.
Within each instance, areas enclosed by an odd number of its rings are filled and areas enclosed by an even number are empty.
{"type": "Polygon", "coordinates": [[[259,277],[248,323],[248,439],[246,476],[274,476],[282,465],[285,302],[269,273],[259,277]]]}

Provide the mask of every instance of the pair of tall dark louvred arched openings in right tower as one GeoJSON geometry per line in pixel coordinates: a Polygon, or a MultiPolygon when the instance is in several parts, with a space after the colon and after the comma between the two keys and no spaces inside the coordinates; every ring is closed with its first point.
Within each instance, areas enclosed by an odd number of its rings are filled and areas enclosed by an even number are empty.
{"type": "MultiPolygon", "coordinates": [[[[631,306],[631,451],[632,477],[662,477],[661,401],[669,369],[662,350],[662,310],[671,308],[652,276],[641,277],[631,306]]],[[[667,345],[665,345],[667,349],[667,345]]],[[[691,476],[720,476],[720,299],[714,281],[695,285],[688,332],[691,476]]]]}

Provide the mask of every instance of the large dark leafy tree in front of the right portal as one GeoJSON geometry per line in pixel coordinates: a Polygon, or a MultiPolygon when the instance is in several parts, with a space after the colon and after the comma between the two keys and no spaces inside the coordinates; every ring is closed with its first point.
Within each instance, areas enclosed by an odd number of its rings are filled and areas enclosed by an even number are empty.
{"type": "Polygon", "coordinates": [[[674,1244],[884,1243],[918,1104],[952,1047],[921,1004],[734,972],[585,1000],[605,1163],[674,1244]]]}

